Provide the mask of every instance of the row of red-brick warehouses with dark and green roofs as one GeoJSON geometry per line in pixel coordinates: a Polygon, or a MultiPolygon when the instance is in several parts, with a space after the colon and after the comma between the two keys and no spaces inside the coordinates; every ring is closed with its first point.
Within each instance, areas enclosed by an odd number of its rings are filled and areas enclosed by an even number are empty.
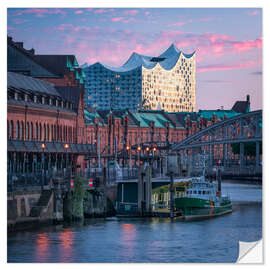
{"type": "MultiPolygon", "coordinates": [[[[67,163],[73,168],[96,166],[92,163],[97,161],[99,145],[104,165],[115,157],[123,164],[132,145],[180,142],[203,127],[249,110],[249,98],[236,102],[232,110],[198,113],[84,109],[84,80],[74,55],[35,55],[8,37],[9,171],[37,171],[42,155],[48,170],[67,163]]],[[[133,155],[136,151],[131,150],[133,155]]]]}

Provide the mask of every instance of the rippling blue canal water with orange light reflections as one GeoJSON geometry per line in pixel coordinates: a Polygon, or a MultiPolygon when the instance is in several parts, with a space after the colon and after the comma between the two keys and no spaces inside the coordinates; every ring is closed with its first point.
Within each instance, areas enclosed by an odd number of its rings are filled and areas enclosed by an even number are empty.
{"type": "Polygon", "coordinates": [[[8,236],[8,262],[235,262],[262,238],[260,185],[224,183],[231,214],[201,221],[91,219],[8,236]]]}

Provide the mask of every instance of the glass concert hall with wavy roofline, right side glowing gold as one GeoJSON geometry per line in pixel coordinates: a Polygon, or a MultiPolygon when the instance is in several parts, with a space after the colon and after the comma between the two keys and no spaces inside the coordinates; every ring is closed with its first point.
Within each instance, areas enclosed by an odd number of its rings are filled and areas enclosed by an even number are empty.
{"type": "Polygon", "coordinates": [[[173,44],[158,57],[133,53],[121,67],[95,63],[84,68],[85,104],[96,110],[195,111],[195,52],[173,44]]]}

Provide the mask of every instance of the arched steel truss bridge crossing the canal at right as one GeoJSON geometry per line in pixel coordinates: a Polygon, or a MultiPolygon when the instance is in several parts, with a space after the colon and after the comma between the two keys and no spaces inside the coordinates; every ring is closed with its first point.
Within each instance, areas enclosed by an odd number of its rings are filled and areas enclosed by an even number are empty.
{"type": "Polygon", "coordinates": [[[189,136],[180,143],[173,144],[173,152],[194,159],[194,154],[203,149],[209,154],[209,165],[219,160],[223,167],[235,167],[238,171],[252,168],[261,171],[260,144],[262,143],[262,110],[241,114],[216,124],[189,136]],[[239,155],[235,159],[232,144],[239,143],[239,155]],[[245,143],[255,143],[256,158],[244,160],[245,143]],[[234,158],[232,159],[232,156],[234,158]],[[216,157],[216,158],[215,158],[216,157]],[[234,161],[234,162],[233,162],[234,161]],[[235,162],[237,161],[237,162],[235,162]]]}

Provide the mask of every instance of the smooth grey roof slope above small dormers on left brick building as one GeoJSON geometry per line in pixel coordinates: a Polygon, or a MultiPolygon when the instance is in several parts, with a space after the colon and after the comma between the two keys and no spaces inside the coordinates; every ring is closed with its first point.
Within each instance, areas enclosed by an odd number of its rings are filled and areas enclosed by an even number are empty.
{"type": "Polygon", "coordinates": [[[7,86],[8,88],[15,88],[19,90],[24,89],[26,91],[39,92],[41,94],[43,93],[60,97],[52,83],[35,79],[29,76],[24,76],[15,72],[8,72],[7,86]]]}

